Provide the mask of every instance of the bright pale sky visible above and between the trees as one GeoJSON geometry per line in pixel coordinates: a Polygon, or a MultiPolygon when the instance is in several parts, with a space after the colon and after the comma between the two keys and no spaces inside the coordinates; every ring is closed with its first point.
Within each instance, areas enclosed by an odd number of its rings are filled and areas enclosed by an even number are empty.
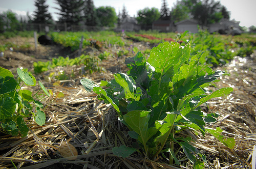
{"type": "MultiPolygon", "coordinates": [[[[172,9],[177,0],[166,0],[167,7],[172,9]]],[[[217,2],[217,0],[215,0],[217,2]]],[[[230,11],[230,19],[240,21],[240,26],[249,27],[251,25],[256,26],[256,1],[255,0],[219,0],[228,11],[230,11]]],[[[116,13],[122,11],[125,6],[130,16],[137,16],[137,11],[144,8],[158,8],[159,11],[162,6],[162,0],[94,0],[96,8],[101,6],[111,6],[116,9],[116,13]]],[[[47,0],[46,4],[49,5],[49,12],[52,14],[54,20],[59,17],[56,12],[59,7],[56,4],[56,0],[47,0]]],[[[26,15],[29,12],[30,15],[34,13],[36,7],[34,6],[34,0],[0,0],[0,12],[12,10],[19,15],[26,15]]]]}

